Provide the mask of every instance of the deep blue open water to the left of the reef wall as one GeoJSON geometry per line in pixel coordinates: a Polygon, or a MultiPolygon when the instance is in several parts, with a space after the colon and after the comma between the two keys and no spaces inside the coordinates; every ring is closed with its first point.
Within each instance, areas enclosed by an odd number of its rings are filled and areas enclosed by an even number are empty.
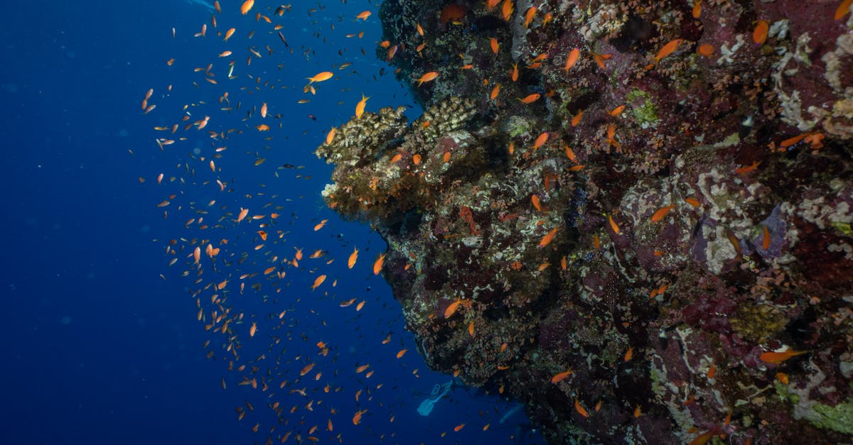
{"type": "Polygon", "coordinates": [[[410,118],[419,113],[392,68],[374,57],[378,4],[327,2],[309,13],[318,3],[294,2],[292,11],[275,17],[278,3],[258,0],[244,17],[236,10],[240,3],[223,2],[218,28],[206,7],[183,0],[17,2],[0,15],[0,229],[6,234],[0,443],[264,443],[288,431],[288,442],[296,435],[337,441],[339,434],[345,443],[541,442],[525,429],[523,412],[499,424],[512,402],[473,390],[454,390],[428,417],[416,413],[433,385],[450,376],[427,369],[404,329],[399,304],[371,273],[385,248],[382,240],[322,204],[319,192],[331,170],[313,150],[329,128],[351,116],[362,94],[370,96],[368,111],[409,105],[410,118]],[[365,9],[374,14],[354,21],[365,9]],[[254,20],[255,11],[284,26],[289,48],[272,25],[254,20]],[[206,37],[194,38],[203,24],[206,37]],[[216,32],[232,26],[234,37],[223,43],[216,32]],[[346,37],[360,31],[363,38],[346,37]],[[249,45],[263,55],[253,57],[251,66],[249,45]],[[225,49],[234,55],[219,58],[225,49]],[[166,65],[170,58],[173,66],[166,65]],[[227,79],[232,60],[237,78],[227,79]],[[345,70],[334,65],[343,62],[353,65],[345,70]],[[218,84],[194,72],[209,63],[218,84]],[[380,76],[383,67],[386,74],[380,76]],[[305,77],[327,70],[335,78],[317,84],[316,95],[302,91],[305,77]],[[157,107],[142,114],[140,102],[151,88],[148,102],[157,107]],[[232,106],[241,102],[240,110],[219,109],[224,91],[232,106]],[[310,102],[297,104],[299,99],[310,102]],[[256,111],[247,118],[264,101],[271,116],[261,119],[256,111]],[[184,105],[191,114],[186,122],[180,120],[184,105]],[[182,128],[174,136],[187,139],[163,150],[155,143],[172,136],[154,126],[183,127],[205,115],[211,116],[205,130],[182,128]],[[273,129],[255,130],[262,121],[273,129]],[[229,134],[228,140],[206,134],[228,129],[243,133],[229,134]],[[214,173],[208,162],[216,147],[227,149],[214,159],[221,169],[214,173]],[[254,166],[258,158],[266,160],[254,166]],[[160,173],[164,180],[158,185],[160,173]],[[229,192],[219,191],[217,178],[229,192]],[[157,207],[164,199],[171,204],[157,207]],[[212,199],[217,203],[208,206],[212,199]],[[268,203],[272,206],[264,207],[268,203]],[[236,215],[241,207],[250,209],[250,217],[269,215],[274,206],[280,206],[281,217],[264,228],[270,239],[256,251],[260,221],[236,224],[236,215]],[[185,226],[200,216],[211,228],[185,226]],[[328,223],[315,232],[322,219],[328,223]],[[283,235],[276,240],[277,230],[283,235]],[[203,255],[200,283],[194,283],[195,239],[223,247],[216,269],[203,255]],[[227,245],[219,244],[223,239],[227,245]],[[174,255],[167,253],[170,240],[176,241],[174,255]],[[298,247],[305,253],[299,268],[282,265],[282,280],[255,277],[239,292],[237,275],[261,273],[276,264],[272,256],[291,260],[298,247]],[[349,270],[345,263],[353,247],[359,260],[349,270]],[[328,253],[309,259],[316,250],[328,253]],[[236,264],[242,252],[248,259],[236,264]],[[177,262],[169,266],[172,258],[177,262]],[[311,292],[321,274],[328,280],[311,292]],[[221,280],[229,280],[223,292],[213,291],[210,285],[221,280]],[[250,289],[253,283],[261,285],[258,292],[250,289]],[[196,320],[191,295],[198,290],[206,317],[214,293],[227,295],[223,307],[230,315],[243,314],[245,322],[232,325],[242,342],[234,367],[257,366],[252,375],[263,376],[268,390],[239,385],[248,371],[229,371],[233,355],[223,349],[228,337],[206,331],[206,323],[196,320]],[[350,298],[364,301],[363,309],[339,307],[350,298]],[[287,315],[279,321],[282,310],[287,315]],[[258,323],[253,338],[247,335],[251,322],[258,323]],[[391,341],[382,344],[389,334],[391,341]],[[275,338],[280,341],[270,349],[275,338]],[[319,341],[328,344],[325,357],[318,355],[319,341]],[[401,349],[408,352],[395,358],[401,349]],[[295,383],[310,362],[314,369],[295,383]],[[355,372],[363,364],[374,371],[371,377],[355,372]],[[282,380],[287,384],[279,389],[282,380]],[[306,396],[289,393],[302,388],[306,396]],[[359,402],[357,390],[363,391],[359,402]],[[305,407],[310,401],[312,410],[305,407]],[[268,406],[275,402],[287,425],[277,424],[268,406]],[[247,411],[243,419],[237,407],[247,411]],[[353,425],[359,410],[367,411],[353,425]],[[334,431],[328,431],[329,419],[334,431]],[[482,431],[486,424],[489,431],[482,431]],[[314,425],[317,430],[309,434],[314,425]]]}

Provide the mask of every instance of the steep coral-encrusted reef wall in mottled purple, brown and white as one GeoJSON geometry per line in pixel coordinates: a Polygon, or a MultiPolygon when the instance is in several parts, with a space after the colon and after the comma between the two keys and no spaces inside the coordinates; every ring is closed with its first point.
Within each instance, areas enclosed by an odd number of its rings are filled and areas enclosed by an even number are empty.
{"type": "Polygon", "coordinates": [[[853,441],[848,9],[386,0],[426,112],[330,134],[324,199],[427,363],[549,442],[853,441]]]}

